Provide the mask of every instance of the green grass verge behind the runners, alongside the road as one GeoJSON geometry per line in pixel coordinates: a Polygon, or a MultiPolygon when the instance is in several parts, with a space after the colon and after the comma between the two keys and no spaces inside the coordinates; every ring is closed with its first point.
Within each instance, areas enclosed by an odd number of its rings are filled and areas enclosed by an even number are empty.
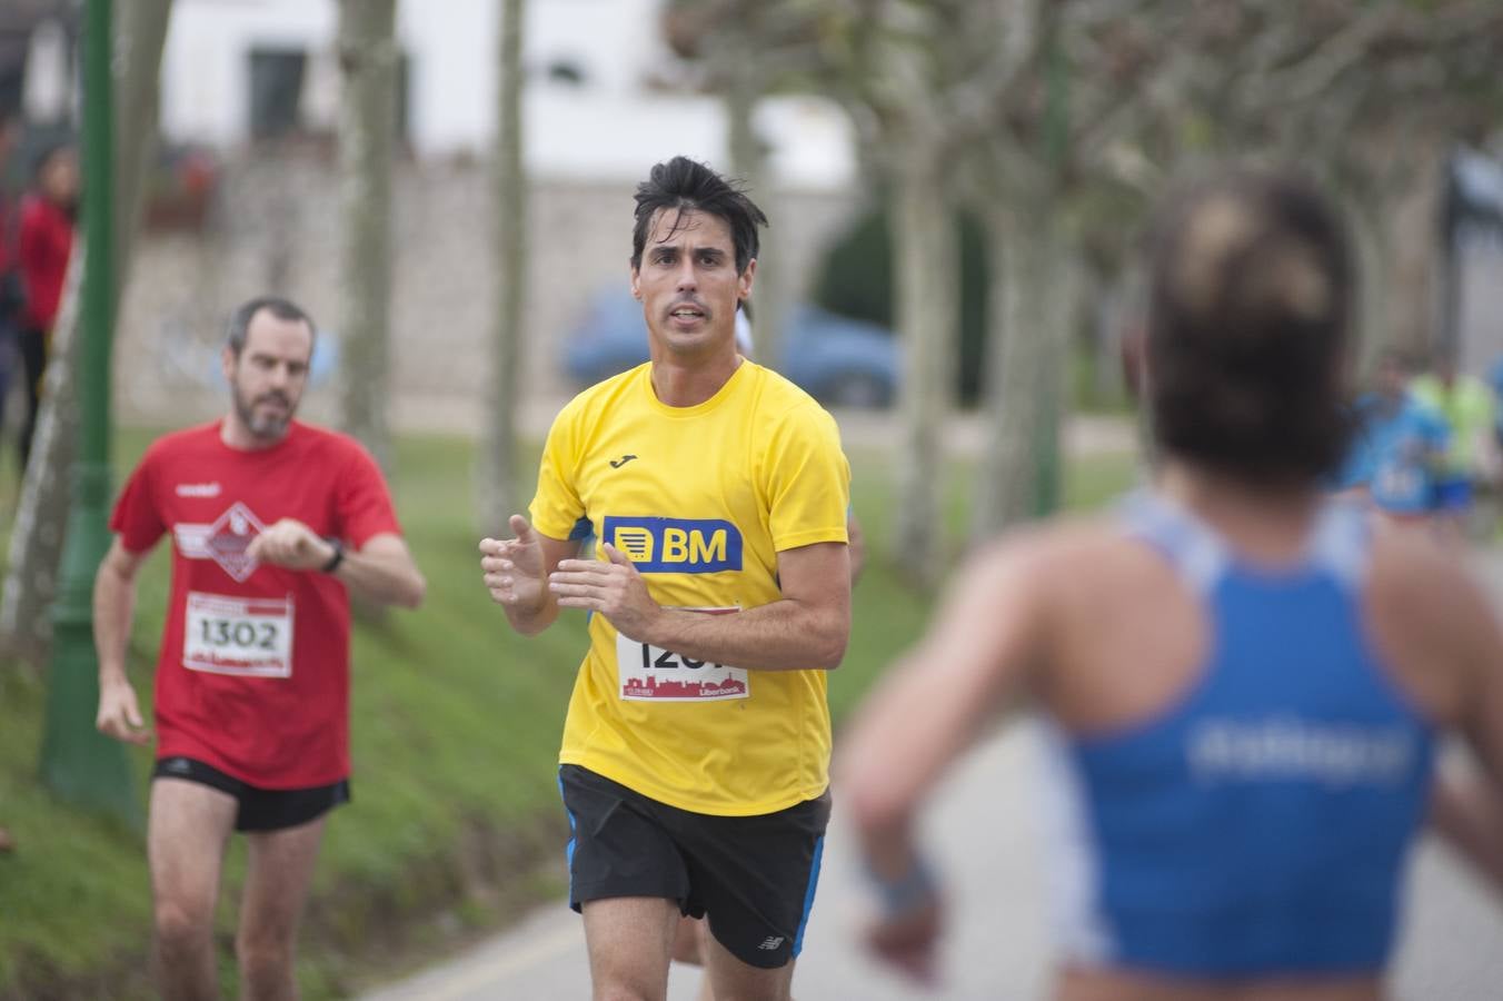
{"type": "MultiPolygon", "coordinates": [[[[147,442],[144,431],[123,433],[120,469],[147,442]]],[[[320,860],[299,965],[307,998],[341,996],[370,975],[373,960],[389,968],[392,954],[436,945],[455,929],[488,927],[561,885],[555,761],[586,643],[583,618],[565,616],[532,640],[505,627],[479,583],[472,464],[463,440],[398,445],[394,491],[428,597],[416,613],[356,628],[355,801],[329,825],[320,860]],[[540,867],[540,860],[550,861],[540,867]],[[443,921],[430,920],[439,912],[443,921]]],[[[917,636],[929,610],[888,546],[887,463],[855,452],[852,466],[870,561],[846,661],[831,678],[837,718],[917,636]]],[[[960,463],[948,470],[953,540],[966,525],[969,475],[960,463]]],[[[1067,496],[1091,505],[1130,476],[1126,457],[1093,460],[1070,469],[1067,496]]],[[[147,700],[168,565],[164,544],[143,570],[132,678],[147,700]]],[[[0,664],[0,824],[18,843],[0,855],[0,998],[149,996],[143,837],[57,803],[36,783],[44,703],[41,681],[0,664]]],[[[131,755],[144,800],[149,753],[131,755]]],[[[216,923],[227,987],[245,864],[234,845],[216,923]]]]}

